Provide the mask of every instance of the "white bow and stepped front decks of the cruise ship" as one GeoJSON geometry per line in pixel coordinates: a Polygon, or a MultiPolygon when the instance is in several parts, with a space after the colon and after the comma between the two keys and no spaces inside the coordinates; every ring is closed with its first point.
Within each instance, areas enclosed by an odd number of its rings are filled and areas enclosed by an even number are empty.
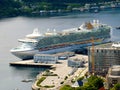
{"type": "Polygon", "coordinates": [[[37,52],[35,49],[40,37],[42,38],[43,36],[35,28],[32,34],[26,35],[24,39],[18,39],[22,44],[11,49],[10,52],[21,59],[30,59],[37,52]]]}

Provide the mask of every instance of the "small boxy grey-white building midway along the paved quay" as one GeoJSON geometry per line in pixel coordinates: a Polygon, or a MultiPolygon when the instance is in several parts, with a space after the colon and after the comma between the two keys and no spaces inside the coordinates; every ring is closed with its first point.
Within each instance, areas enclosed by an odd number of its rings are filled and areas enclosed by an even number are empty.
{"type": "Polygon", "coordinates": [[[69,59],[68,60],[68,66],[69,67],[75,67],[75,68],[82,67],[83,66],[83,61],[80,60],[80,59],[69,59]]]}

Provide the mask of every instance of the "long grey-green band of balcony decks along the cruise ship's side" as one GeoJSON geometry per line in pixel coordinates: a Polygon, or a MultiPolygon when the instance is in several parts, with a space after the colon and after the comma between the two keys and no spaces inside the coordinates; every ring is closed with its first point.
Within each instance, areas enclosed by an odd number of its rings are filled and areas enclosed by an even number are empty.
{"type": "MultiPolygon", "coordinates": [[[[101,32],[102,30],[99,31],[99,33],[87,33],[85,35],[82,34],[72,34],[72,35],[67,35],[67,36],[56,36],[56,37],[47,37],[41,41],[38,42],[37,46],[42,48],[42,47],[48,47],[51,45],[55,45],[55,44],[60,44],[60,43],[71,43],[71,42],[76,42],[76,41],[84,41],[84,40],[88,40],[89,38],[95,37],[95,38],[101,38],[101,37],[106,37],[109,36],[109,32],[104,31],[104,33],[101,32]],[[83,37],[84,36],[84,37],[83,37]],[[83,39],[82,39],[83,38],[83,39]],[[86,39],[84,39],[86,38],[86,39]],[[77,39],[77,40],[76,40],[77,39]]],[[[98,31],[97,31],[98,32],[98,31]]]]}

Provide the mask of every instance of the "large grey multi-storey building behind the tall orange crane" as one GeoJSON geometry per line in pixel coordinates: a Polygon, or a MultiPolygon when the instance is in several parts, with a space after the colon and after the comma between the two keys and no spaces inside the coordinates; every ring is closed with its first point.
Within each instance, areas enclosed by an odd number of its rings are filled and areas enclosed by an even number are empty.
{"type": "Polygon", "coordinates": [[[120,46],[106,43],[89,48],[89,72],[97,75],[106,75],[109,67],[120,65],[120,46]]]}

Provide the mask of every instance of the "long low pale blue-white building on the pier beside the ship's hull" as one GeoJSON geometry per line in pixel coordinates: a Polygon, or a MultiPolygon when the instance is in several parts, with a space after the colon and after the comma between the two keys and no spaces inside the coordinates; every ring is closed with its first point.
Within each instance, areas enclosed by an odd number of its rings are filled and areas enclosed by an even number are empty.
{"type": "Polygon", "coordinates": [[[58,61],[58,56],[52,54],[36,54],[34,55],[35,63],[55,64],[58,61]]]}

